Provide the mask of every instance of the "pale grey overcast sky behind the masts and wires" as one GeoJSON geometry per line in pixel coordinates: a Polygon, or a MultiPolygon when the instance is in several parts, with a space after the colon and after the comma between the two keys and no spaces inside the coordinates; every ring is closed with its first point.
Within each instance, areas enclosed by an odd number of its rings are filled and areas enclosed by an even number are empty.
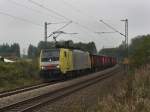
{"type": "MultiPolygon", "coordinates": [[[[99,20],[124,33],[129,20],[129,39],[150,33],[150,0],[0,0],[0,44],[18,42],[21,50],[44,40],[44,22],[73,21],[63,29],[77,35],[61,35],[58,40],[94,41],[97,49],[116,47],[123,40],[99,20]],[[37,4],[40,4],[38,6],[37,4]]],[[[64,24],[49,25],[48,34],[64,24]]],[[[48,40],[52,40],[49,38],[48,40]]]]}

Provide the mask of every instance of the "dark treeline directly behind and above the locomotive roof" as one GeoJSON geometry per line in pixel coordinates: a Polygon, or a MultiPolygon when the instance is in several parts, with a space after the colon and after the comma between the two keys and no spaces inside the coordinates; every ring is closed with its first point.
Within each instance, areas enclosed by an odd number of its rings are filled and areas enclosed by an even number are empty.
{"type": "Polygon", "coordinates": [[[96,54],[97,49],[94,42],[89,43],[73,43],[72,40],[70,41],[59,41],[55,44],[55,42],[44,42],[40,41],[38,46],[29,45],[28,48],[28,57],[34,58],[39,56],[41,49],[51,49],[51,48],[70,48],[70,49],[79,49],[83,51],[88,51],[89,53],[96,54]]]}

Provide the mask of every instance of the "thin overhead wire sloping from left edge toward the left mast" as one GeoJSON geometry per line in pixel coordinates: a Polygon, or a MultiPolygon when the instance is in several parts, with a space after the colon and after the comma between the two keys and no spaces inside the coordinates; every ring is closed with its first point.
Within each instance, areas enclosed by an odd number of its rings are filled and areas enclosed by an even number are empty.
{"type": "Polygon", "coordinates": [[[4,16],[11,17],[11,18],[13,18],[13,19],[17,19],[17,20],[20,20],[20,21],[24,21],[24,22],[27,22],[27,23],[30,23],[30,24],[33,24],[33,25],[36,25],[36,26],[43,27],[43,25],[41,25],[41,24],[35,23],[35,22],[33,22],[33,21],[30,21],[30,20],[28,20],[28,19],[24,19],[24,18],[21,18],[21,17],[18,17],[18,16],[14,16],[14,15],[12,15],[12,14],[8,14],[8,13],[6,13],[6,12],[0,11],[0,14],[1,14],[1,15],[4,15],[4,16]]]}

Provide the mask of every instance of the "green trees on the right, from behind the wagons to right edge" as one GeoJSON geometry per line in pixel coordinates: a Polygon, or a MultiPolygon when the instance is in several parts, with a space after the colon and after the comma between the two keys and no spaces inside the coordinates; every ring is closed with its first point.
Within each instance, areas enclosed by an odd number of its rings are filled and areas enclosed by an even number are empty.
{"type": "MultiPolygon", "coordinates": [[[[124,42],[117,48],[102,49],[99,54],[116,56],[120,60],[127,56],[124,42]]],[[[134,67],[150,63],[150,35],[137,36],[129,45],[129,61],[134,67]]]]}

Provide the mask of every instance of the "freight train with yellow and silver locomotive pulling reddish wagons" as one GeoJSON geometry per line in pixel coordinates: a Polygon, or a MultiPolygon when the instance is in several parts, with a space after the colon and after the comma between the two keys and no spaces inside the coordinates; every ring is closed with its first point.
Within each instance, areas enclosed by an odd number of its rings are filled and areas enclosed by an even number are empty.
{"type": "Polygon", "coordinates": [[[40,75],[46,80],[51,80],[99,71],[116,63],[114,57],[93,55],[81,50],[43,49],[40,53],[40,75]]]}

